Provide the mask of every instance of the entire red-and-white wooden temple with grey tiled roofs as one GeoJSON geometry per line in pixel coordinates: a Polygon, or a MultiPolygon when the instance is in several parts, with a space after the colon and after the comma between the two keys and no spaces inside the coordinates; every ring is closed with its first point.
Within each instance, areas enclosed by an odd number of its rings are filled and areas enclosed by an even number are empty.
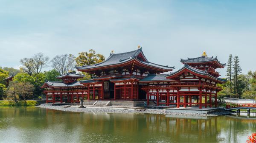
{"type": "Polygon", "coordinates": [[[207,57],[204,52],[198,58],[181,59],[181,69],[172,72],[169,67],[149,62],[142,48],[126,53],[111,53],[98,64],[76,67],[93,75],[90,80],[78,80],[83,75],[67,73],[58,76],[61,82],[46,81],[41,88],[47,103],[78,103],[84,100],[131,100],[145,101],[156,106],[199,108],[217,106],[216,84],[225,80],[218,78],[216,68],[223,68],[217,57],[207,57]],[[203,101],[204,98],[204,101],[203,101]],[[214,103],[212,103],[214,98],[214,103]]]}

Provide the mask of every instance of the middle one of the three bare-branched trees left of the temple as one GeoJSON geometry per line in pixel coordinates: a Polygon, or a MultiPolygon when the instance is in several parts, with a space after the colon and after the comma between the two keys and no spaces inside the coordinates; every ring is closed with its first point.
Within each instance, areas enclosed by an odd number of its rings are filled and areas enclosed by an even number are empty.
{"type": "Polygon", "coordinates": [[[38,74],[44,67],[48,67],[49,57],[45,56],[43,53],[37,53],[33,56],[34,64],[35,64],[35,72],[38,74]]]}

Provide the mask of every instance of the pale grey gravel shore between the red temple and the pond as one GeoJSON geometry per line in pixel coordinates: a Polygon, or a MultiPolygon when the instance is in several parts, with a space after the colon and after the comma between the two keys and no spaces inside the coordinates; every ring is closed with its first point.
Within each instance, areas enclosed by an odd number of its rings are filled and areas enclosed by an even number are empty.
{"type": "MultiPolygon", "coordinates": [[[[67,105],[66,105],[67,106],[67,105]]],[[[218,115],[230,114],[232,112],[222,111],[222,112],[212,112],[211,114],[198,114],[198,113],[175,113],[175,112],[166,112],[165,109],[122,109],[122,108],[108,108],[108,107],[86,107],[86,108],[78,108],[78,107],[68,107],[66,106],[51,106],[47,104],[42,104],[36,107],[47,108],[47,109],[55,109],[61,111],[69,111],[69,112],[104,112],[104,113],[146,113],[146,114],[161,114],[161,115],[192,115],[192,116],[202,116],[202,117],[212,117],[218,115]]]]}

